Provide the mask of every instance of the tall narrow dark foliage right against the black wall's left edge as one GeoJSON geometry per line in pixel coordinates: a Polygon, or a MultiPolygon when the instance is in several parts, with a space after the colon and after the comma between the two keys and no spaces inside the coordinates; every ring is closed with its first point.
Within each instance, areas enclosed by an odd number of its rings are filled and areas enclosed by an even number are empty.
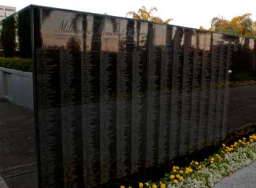
{"type": "Polygon", "coordinates": [[[30,9],[20,12],[17,21],[20,57],[31,58],[30,9]]]}

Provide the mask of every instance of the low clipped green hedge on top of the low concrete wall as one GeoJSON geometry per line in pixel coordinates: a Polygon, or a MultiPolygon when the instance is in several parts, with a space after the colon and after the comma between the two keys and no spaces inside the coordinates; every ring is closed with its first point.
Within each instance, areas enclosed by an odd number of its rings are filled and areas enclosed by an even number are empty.
{"type": "Polygon", "coordinates": [[[33,72],[32,59],[0,58],[0,67],[33,72]]]}

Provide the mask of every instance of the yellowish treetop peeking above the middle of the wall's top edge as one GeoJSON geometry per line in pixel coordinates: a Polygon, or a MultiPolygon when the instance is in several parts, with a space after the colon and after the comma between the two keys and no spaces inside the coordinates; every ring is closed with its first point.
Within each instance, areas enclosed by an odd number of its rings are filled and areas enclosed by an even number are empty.
{"type": "Polygon", "coordinates": [[[137,20],[148,20],[151,22],[159,22],[159,23],[166,23],[168,24],[173,19],[169,18],[165,21],[163,21],[160,17],[154,17],[153,12],[157,12],[158,10],[155,7],[152,7],[149,11],[144,7],[140,7],[140,9],[137,12],[127,12],[127,16],[131,15],[132,18],[137,20]]]}

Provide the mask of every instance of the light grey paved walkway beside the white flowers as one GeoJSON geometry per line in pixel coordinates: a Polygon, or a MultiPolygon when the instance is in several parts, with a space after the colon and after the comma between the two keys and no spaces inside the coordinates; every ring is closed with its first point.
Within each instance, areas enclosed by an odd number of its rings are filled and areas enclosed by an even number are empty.
{"type": "Polygon", "coordinates": [[[256,161],[250,166],[236,171],[224,178],[213,188],[255,188],[256,187],[256,161]]]}

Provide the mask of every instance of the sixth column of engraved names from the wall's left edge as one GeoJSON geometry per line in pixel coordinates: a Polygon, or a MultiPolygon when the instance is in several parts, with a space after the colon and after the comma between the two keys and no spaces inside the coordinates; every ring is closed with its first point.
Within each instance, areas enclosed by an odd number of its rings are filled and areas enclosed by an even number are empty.
{"type": "Polygon", "coordinates": [[[131,172],[137,172],[145,163],[146,51],[132,53],[132,156],[131,172]]]}

